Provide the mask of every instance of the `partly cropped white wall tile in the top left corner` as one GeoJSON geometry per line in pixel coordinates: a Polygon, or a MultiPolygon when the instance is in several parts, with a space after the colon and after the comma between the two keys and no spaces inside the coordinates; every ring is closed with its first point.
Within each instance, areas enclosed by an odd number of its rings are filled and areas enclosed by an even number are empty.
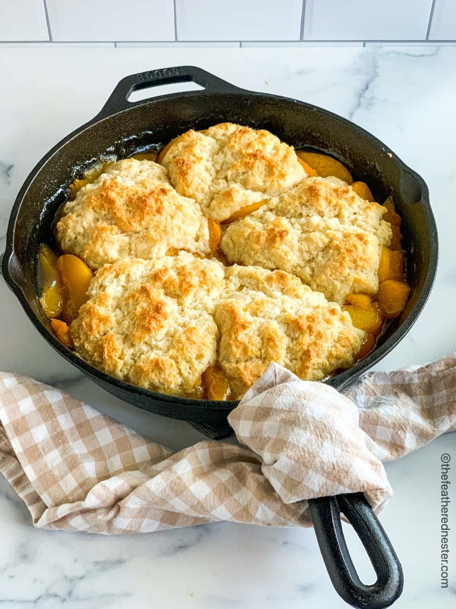
{"type": "Polygon", "coordinates": [[[43,0],[0,0],[0,40],[49,40],[43,0]]]}

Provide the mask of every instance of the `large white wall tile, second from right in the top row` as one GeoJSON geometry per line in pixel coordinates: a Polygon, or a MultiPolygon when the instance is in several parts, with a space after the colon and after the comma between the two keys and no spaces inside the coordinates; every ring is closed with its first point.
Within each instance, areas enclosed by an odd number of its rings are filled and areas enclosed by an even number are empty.
{"type": "Polygon", "coordinates": [[[304,40],[424,40],[431,7],[432,0],[306,0],[304,40]]]}

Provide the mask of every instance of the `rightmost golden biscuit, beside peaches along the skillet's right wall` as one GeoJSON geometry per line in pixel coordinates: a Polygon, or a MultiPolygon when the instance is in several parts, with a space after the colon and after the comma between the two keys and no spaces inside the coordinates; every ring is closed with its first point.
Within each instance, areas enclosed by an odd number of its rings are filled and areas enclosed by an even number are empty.
{"type": "Polygon", "coordinates": [[[392,236],[385,208],[337,178],[308,178],[227,227],[229,261],[283,269],[328,300],[375,294],[381,246],[392,236]]]}

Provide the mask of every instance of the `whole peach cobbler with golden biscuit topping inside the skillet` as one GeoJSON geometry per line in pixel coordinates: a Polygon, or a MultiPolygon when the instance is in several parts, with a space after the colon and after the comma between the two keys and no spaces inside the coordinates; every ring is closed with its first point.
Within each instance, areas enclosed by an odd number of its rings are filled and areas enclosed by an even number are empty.
{"type": "Polygon", "coordinates": [[[172,395],[241,398],[274,361],[320,381],[406,306],[392,197],[266,130],[190,130],[74,180],[40,305],[89,364],[172,395]]]}

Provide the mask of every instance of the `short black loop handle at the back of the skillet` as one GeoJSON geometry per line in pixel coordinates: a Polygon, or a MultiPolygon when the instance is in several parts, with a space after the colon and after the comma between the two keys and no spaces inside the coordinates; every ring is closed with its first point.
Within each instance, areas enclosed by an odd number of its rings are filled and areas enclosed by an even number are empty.
{"type": "Polygon", "coordinates": [[[144,104],[146,100],[133,103],[128,102],[128,96],[133,91],[148,89],[154,86],[170,85],[175,82],[195,82],[197,85],[202,86],[204,90],[212,91],[213,93],[243,91],[243,89],[231,85],[226,80],[219,79],[217,76],[210,74],[210,72],[206,72],[206,70],[196,66],[175,66],[174,68],[149,70],[147,72],[139,72],[139,74],[131,74],[120,80],[98,114],[98,118],[120,112],[134,105],[144,104]]]}

